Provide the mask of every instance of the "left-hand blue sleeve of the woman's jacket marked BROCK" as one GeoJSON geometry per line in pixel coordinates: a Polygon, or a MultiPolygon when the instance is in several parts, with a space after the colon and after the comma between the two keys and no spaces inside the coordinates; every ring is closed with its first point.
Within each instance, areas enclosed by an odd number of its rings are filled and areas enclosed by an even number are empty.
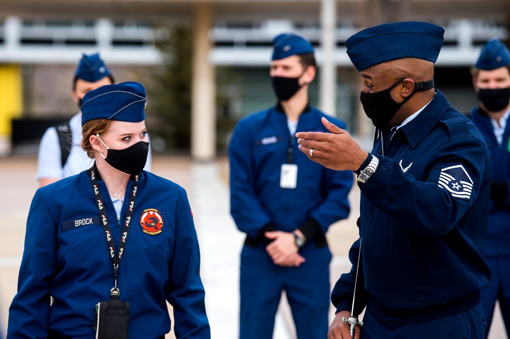
{"type": "Polygon", "coordinates": [[[49,285],[56,271],[57,228],[38,189],[27,220],[18,292],[9,308],[9,339],[44,339],[48,334],[49,285]]]}

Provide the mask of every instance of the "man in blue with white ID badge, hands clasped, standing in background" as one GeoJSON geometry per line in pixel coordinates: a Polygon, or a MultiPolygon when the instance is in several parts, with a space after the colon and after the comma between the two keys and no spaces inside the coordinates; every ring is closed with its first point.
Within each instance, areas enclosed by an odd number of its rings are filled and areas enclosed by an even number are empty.
{"type": "MultiPolygon", "coordinates": [[[[326,131],[320,123],[324,113],[309,104],[314,49],[294,34],[273,42],[270,76],[277,104],[240,120],[228,150],[231,213],[246,233],[240,338],[273,337],[276,309],[286,291],[298,338],[323,339],[331,260],[325,234],[349,214],[353,174],[310,163],[299,152],[296,131],[326,131]]],[[[345,128],[342,121],[328,119],[345,128]]]]}

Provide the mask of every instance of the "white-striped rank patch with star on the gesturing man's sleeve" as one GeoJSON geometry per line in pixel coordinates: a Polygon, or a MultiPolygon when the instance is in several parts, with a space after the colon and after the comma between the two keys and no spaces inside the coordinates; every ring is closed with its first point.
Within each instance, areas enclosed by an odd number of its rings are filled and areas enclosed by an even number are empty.
{"type": "Polygon", "coordinates": [[[473,180],[463,165],[455,165],[441,170],[438,186],[446,188],[452,196],[458,199],[469,200],[473,189],[473,180]]]}

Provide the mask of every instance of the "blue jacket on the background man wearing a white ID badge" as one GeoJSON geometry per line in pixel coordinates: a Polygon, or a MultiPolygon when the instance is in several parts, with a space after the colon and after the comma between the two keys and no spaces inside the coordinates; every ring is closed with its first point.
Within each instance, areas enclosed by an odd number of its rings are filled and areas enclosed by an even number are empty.
{"type": "MultiPolygon", "coordinates": [[[[346,128],[340,120],[308,108],[300,115],[296,131],[326,132],[322,117],[346,128]]],[[[349,215],[352,172],[328,170],[310,161],[299,151],[297,138],[291,137],[283,111],[269,108],[241,119],[228,154],[231,213],[238,229],[248,236],[257,238],[268,223],[278,231],[291,232],[310,218],[325,234],[330,224],[349,215]],[[298,166],[295,189],[280,187],[281,166],[288,162],[290,143],[291,162],[298,166]]]]}

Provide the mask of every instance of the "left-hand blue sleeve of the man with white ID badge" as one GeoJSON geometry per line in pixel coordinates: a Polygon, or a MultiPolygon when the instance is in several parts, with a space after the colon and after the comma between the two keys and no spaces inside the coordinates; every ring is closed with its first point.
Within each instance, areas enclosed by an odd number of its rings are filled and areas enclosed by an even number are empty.
{"type": "Polygon", "coordinates": [[[271,218],[262,208],[255,190],[252,145],[246,121],[241,120],[228,147],[230,160],[230,208],[241,232],[257,238],[271,218]]]}

